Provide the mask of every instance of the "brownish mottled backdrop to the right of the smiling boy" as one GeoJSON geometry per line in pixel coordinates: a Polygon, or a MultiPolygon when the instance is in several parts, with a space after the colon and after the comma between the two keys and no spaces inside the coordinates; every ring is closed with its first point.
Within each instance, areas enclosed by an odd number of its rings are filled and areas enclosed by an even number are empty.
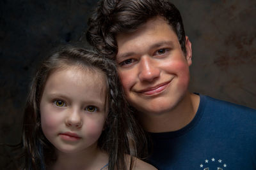
{"type": "Polygon", "coordinates": [[[256,108],[256,1],[175,4],[193,47],[191,90],[256,108]]]}

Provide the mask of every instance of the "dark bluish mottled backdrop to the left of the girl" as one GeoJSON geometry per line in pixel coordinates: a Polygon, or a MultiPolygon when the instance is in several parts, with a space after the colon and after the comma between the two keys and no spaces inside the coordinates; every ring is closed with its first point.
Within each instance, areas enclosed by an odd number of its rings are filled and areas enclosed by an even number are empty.
{"type": "MultiPolygon", "coordinates": [[[[52,46],[79,39],[96,3],[0,1],[0,143],[19,143],[23,108],[35,67],[52,46]]],[[[10,160],[9,150],[0,147],[0,169],[6,169],[6,160],[10,160]]]]}

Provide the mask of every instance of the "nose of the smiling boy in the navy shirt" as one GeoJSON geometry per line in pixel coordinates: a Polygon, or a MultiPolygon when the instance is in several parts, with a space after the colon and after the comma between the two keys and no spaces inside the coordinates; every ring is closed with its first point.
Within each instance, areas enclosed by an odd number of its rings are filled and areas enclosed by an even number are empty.
{"type": "Polygon", "coordinates": [[[140,81],[153,81],[160,76],[160,70],[157,64],[153,59],[150,59],[149,56],[141,57],[139,67],[140,81]]]}

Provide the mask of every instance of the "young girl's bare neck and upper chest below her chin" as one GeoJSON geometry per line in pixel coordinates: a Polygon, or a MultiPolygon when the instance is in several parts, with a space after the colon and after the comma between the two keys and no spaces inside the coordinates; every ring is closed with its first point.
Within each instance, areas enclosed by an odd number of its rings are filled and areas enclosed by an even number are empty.
{"type": "Polygon", "coordinates": [[[51,170],[90,170],[101,169],[108,164],[108,154],[99,148],[79,153],[57,152],[57,160],[51,170]]]}

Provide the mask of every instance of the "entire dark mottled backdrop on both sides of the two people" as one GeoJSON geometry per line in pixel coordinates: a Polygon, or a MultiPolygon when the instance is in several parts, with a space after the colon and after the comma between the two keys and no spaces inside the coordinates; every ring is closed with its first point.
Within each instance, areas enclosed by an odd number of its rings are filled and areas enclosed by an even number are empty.
{"type": "MultiPolygon", "coordinates": [[[[31,73],[47,50],[76,41],[93,0],[0,1],[0,143],[18,143],[31,73]]],[[[175,0],[193,45],[191,91],[256,108],[256,3],[175,0]]],[[[10,159],[0,149],[0,169],[10,159]]]]}

